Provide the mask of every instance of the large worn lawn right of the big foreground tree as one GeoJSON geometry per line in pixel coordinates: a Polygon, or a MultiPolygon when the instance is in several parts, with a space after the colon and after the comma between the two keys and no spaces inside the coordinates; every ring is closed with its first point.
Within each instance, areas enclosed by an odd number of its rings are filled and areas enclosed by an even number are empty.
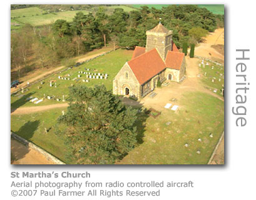
{"type": "Polygon", "coordinates": [[[144,142],[118,164],[207,164],[224,129],[224,103],[190,92],[179,104],[178,113],[166,109],[157,118],[147,118],[144,142]]]}

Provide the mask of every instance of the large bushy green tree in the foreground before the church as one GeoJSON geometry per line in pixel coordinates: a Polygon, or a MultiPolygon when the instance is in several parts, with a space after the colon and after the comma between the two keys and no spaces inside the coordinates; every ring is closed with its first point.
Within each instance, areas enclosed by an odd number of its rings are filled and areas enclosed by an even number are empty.
{"type": "Polygon", "coordinates": [[[59,117],[56,133],[66,139],[70,163],[113,164],[135,148],[135,109],[103,85],[69,90],[68,111],[59,117]]]}

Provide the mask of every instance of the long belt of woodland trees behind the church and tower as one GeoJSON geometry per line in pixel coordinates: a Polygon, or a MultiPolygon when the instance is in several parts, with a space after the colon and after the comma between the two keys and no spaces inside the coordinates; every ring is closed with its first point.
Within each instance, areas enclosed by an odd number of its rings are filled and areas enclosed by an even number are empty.
{"type": "Polygon", "coordinates": [[[106,8],[98,7],[94,13],[77,12],[73,21],[63,19],[42,27],[25,24],[11,33],[11,68],[24,73],[31,66],[41,68],[59,64],[63,59],[79,56],[111,43],[127,49],[146,45],[146,31],[159,22],[173,30],[173,41],[178,48],[184,42],[196,44],[208,31],[223,26],[223,16],[213,14],[195,5],[170,5],[161,9],[148,8],[125,12],[116,8],[107,14],[106,8]],[[28,60],[33,64],[28,64],[28,60]]]}

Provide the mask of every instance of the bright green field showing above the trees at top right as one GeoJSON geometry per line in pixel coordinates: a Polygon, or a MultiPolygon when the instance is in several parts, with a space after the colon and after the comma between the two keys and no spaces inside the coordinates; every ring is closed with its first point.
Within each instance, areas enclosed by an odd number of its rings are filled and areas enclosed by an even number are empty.
{"type": "MultiPolygon", "coordinates": [[[[133,5],[135,8],[140,8],[141,6],[148,6],[148,8],[156,8],[161,9],[162,7],[169,6],[168,4],[135,4],[133,5]]],[[[209,11],[213,12],[213,14],[224,14],[224,5],[223,4],[198,4],[200,8],[206,8],[209,11]]]]}

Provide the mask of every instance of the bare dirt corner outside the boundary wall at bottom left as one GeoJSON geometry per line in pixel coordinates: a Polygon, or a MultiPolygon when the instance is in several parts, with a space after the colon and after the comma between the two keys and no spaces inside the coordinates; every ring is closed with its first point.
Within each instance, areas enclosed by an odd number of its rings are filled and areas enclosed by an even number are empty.
{"type": "Polygon", "coordinates": [[[55,164],[38,151],[11,139],[11,164],[55,164]]]}

